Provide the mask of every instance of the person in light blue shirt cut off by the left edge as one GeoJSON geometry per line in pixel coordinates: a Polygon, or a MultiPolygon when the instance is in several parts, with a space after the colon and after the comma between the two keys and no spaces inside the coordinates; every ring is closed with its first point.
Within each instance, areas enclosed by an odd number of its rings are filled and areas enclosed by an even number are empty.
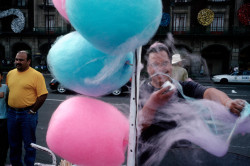
{"type": "Polygon", "coordinates": [[[2,84],[3,72],[0,70],[0,166],[4,166],[7,158],[9,143],[7,132],[7,98],[8,87],[2,84]]]}

